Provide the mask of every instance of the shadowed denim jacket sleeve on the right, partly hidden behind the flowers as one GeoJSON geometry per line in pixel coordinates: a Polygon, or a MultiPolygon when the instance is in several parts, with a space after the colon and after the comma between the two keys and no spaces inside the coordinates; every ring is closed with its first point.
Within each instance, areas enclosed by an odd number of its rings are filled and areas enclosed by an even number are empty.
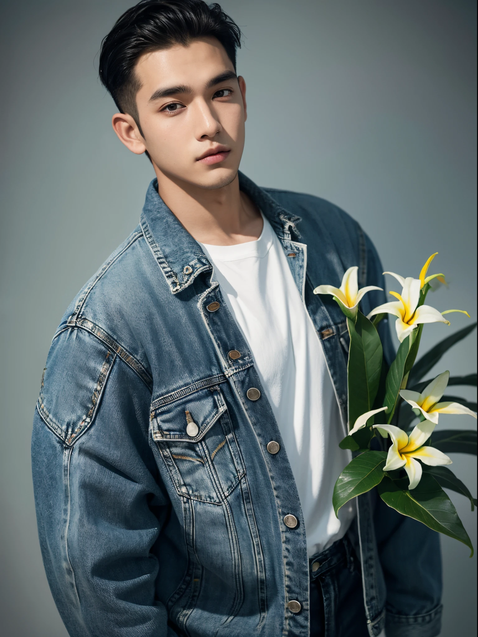
{"type": "MultiPolygon", "coordinates": [[[[367,285],[384,288],[377,250],[365,236],[367,285]]],[[[370,309],[386,302],[385,292],[370,292],[370,309]]],[[[389,321],[379,323],[384,358],[395,358],[389,321]]],[[[435,637],[442,616],[442,559],[438,533],[387,506],[379,496],[374,514],[375,536],[384,573],[387,637],[435,637]],[[412,555],[412,559],[407,559],[412,555]]]]}

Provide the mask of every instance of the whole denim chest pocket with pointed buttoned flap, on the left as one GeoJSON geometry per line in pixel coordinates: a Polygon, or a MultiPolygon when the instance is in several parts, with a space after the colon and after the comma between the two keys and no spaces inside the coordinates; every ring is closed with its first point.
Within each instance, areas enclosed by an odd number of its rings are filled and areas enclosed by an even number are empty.
{"type": "Polygon", "coordinates": [[[219,387],[157,407],[151,423],[178,494],[221,504],[245,471],[219,387]]]}

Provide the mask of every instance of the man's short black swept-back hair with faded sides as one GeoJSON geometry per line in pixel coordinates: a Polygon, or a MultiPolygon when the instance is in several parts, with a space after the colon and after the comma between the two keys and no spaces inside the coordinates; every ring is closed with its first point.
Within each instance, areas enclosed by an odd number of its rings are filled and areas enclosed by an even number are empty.
{"type": "MultiPolygon", "coordinates": [[[[136,93],[141,85],[134,73],[146,53],[187,46],[192,39],[217,38],[236,70],[236,49],[241,46],[238,25],[219,4],[202,0],[141,0],[117,20],[103,39],[99,54],[99,78],[121,113],[140,125],[136,93]]],[[[141,130],[141,129],[140,129],[141,130]]]]}

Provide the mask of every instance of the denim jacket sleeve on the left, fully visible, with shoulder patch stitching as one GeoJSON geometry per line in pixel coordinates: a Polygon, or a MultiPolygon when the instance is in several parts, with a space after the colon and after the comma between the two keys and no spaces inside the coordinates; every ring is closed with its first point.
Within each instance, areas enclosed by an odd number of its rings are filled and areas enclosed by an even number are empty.
{"type": "Polygon", "coordinates": [[[54,340],[32,438],[41,552],[71,637],[172,637],[152,554],[168,513],[148,446],[150,392],[81,329],[54,340]]]}

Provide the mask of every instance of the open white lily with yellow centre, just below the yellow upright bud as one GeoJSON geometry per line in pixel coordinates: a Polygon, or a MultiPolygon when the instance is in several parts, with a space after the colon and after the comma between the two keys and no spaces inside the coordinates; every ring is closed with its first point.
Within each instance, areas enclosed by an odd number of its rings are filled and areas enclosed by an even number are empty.
{"type": "MultiPolygon", "coordinates": [[[[388,274],[392,274],[391,272],[388,274]]],[[[403,281],[402,294],[397,292],[390,292],[392,296],[395,296],[398,301],[392,301],[391,303],[384,303],[373,309],[367,318],[373,317],[375,314],[388,313],[397,317],[395,321],[396,335],[398,340],[402,343],[409,334],[416,329],[420,323],[445,323],[449,325],[450,322],[443,318],[443,314],[449,312],[462,312],[468,317],[468,312],[464,310],[446,310],[440,313],[430,305],[418,306],[420,300],[421,280],[414,279],[408,276],[406,279],[398,275],[393,275],[400,282],[403,281]],[[418,307],[417,307],[418,306],[418,307]]]]}

